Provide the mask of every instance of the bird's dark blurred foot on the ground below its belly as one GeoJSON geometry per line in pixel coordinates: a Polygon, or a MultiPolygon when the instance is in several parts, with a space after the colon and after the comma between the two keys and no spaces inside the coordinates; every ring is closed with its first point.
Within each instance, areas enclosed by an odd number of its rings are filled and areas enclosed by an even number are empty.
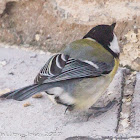
{"type": "MultiPolygon", "coordinates": [[[[94,117],[100,116],[102,113],[107,112],[108,110],[110,110],[115,104],[117,103],[117,101],[114,99],[113,101],[110,101],[106,106],[104,107],[94,107],[91,106],[89,109],[92,109],[93,111],[96,111],[94,113],[90,113],[88,114],[88,119],[93,115],[94,117]]],[[[87,119],[87,120],[88,120],[87,119]]]]}

